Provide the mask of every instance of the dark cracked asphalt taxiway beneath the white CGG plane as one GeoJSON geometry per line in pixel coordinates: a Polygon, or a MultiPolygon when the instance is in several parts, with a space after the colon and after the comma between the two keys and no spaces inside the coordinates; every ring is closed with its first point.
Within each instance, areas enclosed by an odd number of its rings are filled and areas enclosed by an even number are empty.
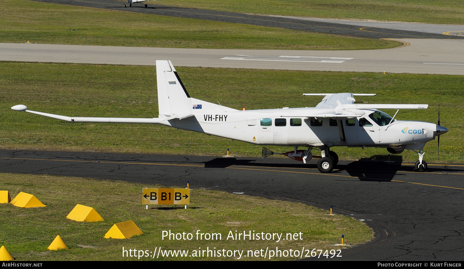
{"type": "MultiPolygon", "coordinates": [[[[301,201],[345,214],[374,228],[377,239],[342,252],[343,260],[458,261],[464,257],[464,166],[341,161],[321,174],[316,162],[0,150],[1,173],[125,180],[239,192],[301,201]]],[[[345,232],[349,243],[349,231],[345,232]]]]}

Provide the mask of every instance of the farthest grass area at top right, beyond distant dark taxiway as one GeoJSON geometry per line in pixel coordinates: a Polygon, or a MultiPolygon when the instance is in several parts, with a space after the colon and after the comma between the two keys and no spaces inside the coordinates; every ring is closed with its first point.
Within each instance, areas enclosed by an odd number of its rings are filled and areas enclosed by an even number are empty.
{"type": "Polygon", "coordinates": [[[159,0],[152,5],[334,19],[464,24],[461,0],[159,0]]]}

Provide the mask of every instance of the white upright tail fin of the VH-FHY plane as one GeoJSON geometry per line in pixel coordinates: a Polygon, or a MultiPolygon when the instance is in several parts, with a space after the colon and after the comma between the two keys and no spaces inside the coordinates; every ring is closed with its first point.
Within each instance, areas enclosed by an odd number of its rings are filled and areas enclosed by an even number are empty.
{"type": "Polygon", "coordinates": [[[156,61],[160,115],[190,115],[192,101],[171,61],[156,61]]]}

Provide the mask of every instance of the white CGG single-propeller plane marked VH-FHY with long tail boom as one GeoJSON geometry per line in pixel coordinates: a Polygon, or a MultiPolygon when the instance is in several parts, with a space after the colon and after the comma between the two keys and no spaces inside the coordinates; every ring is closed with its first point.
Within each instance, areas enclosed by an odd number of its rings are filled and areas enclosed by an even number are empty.
{"type": "MultiPolygon", "coordinates": [[[[321,151],[317,168],[329,173],[338,162],[330,147],[386,147],[392,154],[410,149],[419,154],[417,171],[425,171],[425,143],[448,131],[429,122],[399,121],[377,109],[426,109],[426,104],[355,104],[353,96],[369,94],[306,94],[324,96],[315,108],[237,110],[192,98],[171,61],[156,61],[158,118],[67,117],[27,110],[67,122],[152,123],[212,134],[256,145],[292,146],[288,157],[306,163],[311,150],[321,151]],[[298,150],[298,147],[308,147],[298,150]]],[[[398,111],[397,111],[398,113],[398,111]]],[[[439,124],[439,122],[438,122],[439,124]]],[[[263,148],[263,155],[265,152],[263,148]]],[[[273,154],[271,151],[267,151],[273,154]]]]}

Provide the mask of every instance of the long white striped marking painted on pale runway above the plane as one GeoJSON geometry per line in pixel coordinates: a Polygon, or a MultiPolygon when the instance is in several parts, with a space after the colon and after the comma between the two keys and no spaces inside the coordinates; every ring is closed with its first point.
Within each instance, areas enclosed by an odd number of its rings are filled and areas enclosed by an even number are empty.
{"type": "Polygon", "coordinates": [[[241,57],[224,57],[221,60],[247,60],[247,61],[274,61],[274,62],[303,62],[303,63],[335,63],[340,64],[353,58],[340,57],[310,57],[310,56],[249,56],[236,55],[241,57]]]}

